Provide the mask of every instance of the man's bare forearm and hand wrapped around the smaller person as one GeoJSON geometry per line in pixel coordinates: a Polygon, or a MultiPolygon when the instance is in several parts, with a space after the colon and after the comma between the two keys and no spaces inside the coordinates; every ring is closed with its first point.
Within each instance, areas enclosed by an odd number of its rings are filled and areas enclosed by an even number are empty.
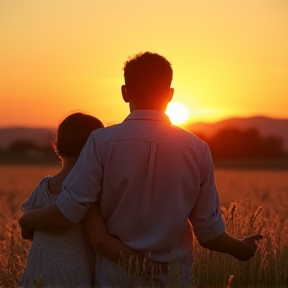
{"type": "Polygon", "coordinates": [[[23,231],[34,229],[49,232],[68,230],[74,225],[63,216],[56,204],[26,212],[19,224],[23,231]]]}

